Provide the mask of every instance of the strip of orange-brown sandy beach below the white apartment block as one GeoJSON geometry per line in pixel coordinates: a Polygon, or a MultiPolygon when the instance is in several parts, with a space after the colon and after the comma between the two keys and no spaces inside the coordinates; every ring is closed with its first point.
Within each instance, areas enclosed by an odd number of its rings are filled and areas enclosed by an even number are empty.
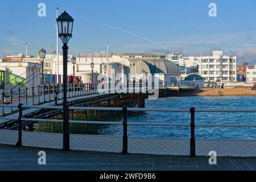
{"type": "Polygon", "coordinates": [[[195,96],[256,96],[256,91],[251,90],[251,87],[237,87],[230,89],[196,89],[193,92],[195,96]]]}

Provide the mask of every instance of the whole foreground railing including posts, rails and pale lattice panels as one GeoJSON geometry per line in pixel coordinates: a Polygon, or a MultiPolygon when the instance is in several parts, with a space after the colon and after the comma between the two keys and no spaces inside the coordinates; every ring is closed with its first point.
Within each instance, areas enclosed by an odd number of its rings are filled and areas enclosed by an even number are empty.
{"type": "MultiPolygon", "coordinates": [[[[18,131],[18,141],[15,146],[20,147],[23,145],[23,133],[26,134],[26,137],[31,137],[32,133],[35,132],[25,132],[22,131],[22,121],[31,121],[31,122],[56,122],[61,123],[63,120],[60,119],[32,119],[32,118],[23,118],[23,109],[28,108],[37,108],[37,109],[63,109],[62,106],[27,106],[23,104],[17,105],[0,105],[0,107],[18,107],[19,109],[19,117],[16,119],[19,123],[19,131],[18,131]]],[[[218,150],[220,155],[228,155],[228,156],[256,156],[256,140],[217,140],[217,139],[196,139],[195,137],[195,127],[256,127],[256,125],[229,125],[229,124],[203,124],[195,122],[195,113],[256,113],[256,110],[212,110],[212,109],[195,109],[191,107],[191,109],[143,109],[143,108],[128,108],[127,106],[123,107],[72,107],[69,106],[68,110],[104,110],[104,111],[122,111],[123,113],[123,122],[106,122],[106,121],[73,121],[69,120],[69,123],[83,123],[83,124],[96,124],[96,125],[122,125],[123,126],[123,136],[122,136],[122,144],[120,143],[120,137],[108,137],[108,136],[94,136],[94,135],[71,135],[71,149],[74,150],[92,150],[92,151],[108,151],[108,152],[118,152],[119,147],[122,145],[122,154],[127,153],[142,153],[142,154],[164,154],[164,155],[186,155],[187,150],[189,150],[189,156],[194,157],[197,155],[207,155],[207,151],[218,150]],[[129,111],[166,111],[166,112],[183,112],[191,114],[190,123],[152,123],[152,122],[128,122],[127,115],[129,111]],[[191,137],[190,139],[166,139],[166,138],[134,138],[127,137],[127,125],[143,125],[143,126],[183,126],[190,127],[191,137]],[[90,142],[86,143],[86,140],[90,140],[90,142]],[[129,142],[131,144],[129,145],[129,142]],[[112,148],[110,150],[104,149],[104,147],[100,145],[106,145],[109,143],[109,147],[112,148]],[[189,143],[189,145],[188,145],[189,143]],[[97,147],[88,147],[84,145],[97,145],[97,147]],[[156,146],[158,147],[156,147],[156,146]],[[73,146],[73,147],[72,147],[73,146]],[[75,146],[75,147],[74,147],[75,146]],[[197,147],[198,146],[198,147],[197,147]],[[229,148],[225,148],[225,146],[229,146],[229,148]],[[142,150],[139,150],[136,147],[141,147],[142,150]],[[161,151],[164,148],[164,151],[161,151]],[[168,151],[168,147],[172,148],[172,151],[168,151]],[[113,149],[114,148],[114,149],[113,149]],[[130,149],[131,148],[131,149],[130,149]],[[173,151],[175,148],[175,151],[173,151]],[[200,150],[197,150],[200,148],[200,150]],[[130,152],[129,152],[130,149],[130,152]],[[144,151],[143,151],[144,150],[144,151]]],[[[0,119],[12,119],[9,117],[0,117],[0,119]]],[[[7,132],[4,130],[1,131],[7,132]]],[[[13,132],[13,131],[12,131],[13,132]]],[[[49,148],[61,148],[61,142],[63,142],[63,138],[61,134],[54,133],[38,133],[38,136],[42,137],[44,135],[44,144],[39,144],[42,139],[33,137],[33,144],[27,144],[27,146],[34,147],[49,147],[49,148]],[[48,137],[46,136],[48,135],[48,137]],[[55,142],[51,141],[52,137],[56,137],[57,140],[55,142]],[[49,140],[47,140],[49,139],[49,140]],[[46,144],[47,142],[52,144],[46,144]],[[56,144],[56,142],[58,144],[56,144]]],[[[31,139],[30,139],[31,140],[31,139]]],[[[12,140],[13,141],[13,140],[12,140]]],[[[14,141],[13,141],[14,142],[14,141]]],[[[1,143],[1,139],[0,139],[1,143]]],[[[2,142],[3,143],[3,142],[2,142]]],[[[26,144],[25,144],[26,146],[26,144]]],[[[208,152],[209,152],[208,151],[208,152]]]]}

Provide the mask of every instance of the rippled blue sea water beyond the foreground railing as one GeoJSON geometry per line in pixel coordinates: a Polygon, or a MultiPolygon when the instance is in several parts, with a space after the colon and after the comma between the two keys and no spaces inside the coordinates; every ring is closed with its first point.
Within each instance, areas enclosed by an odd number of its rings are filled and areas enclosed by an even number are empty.
{"type": "MultiPolygon", "coordinates": [[[[167,109],[256,109],[256,96],[168,97],[147,100],[146,108],[167,109]]],[[[128,122],[190,123],[190,113],[152,112],[128,114],[128,122]]],[[[122,121],[122,119],[117,119],[122,121]]],[[[256,113],[196,113],[196,123],[256,124],[256,113]]],[[[189,138],[189,127],[128,126],[130,137],[189,138]]],[[[122,126],[105,125],[102,135],[122,135],[122,126]]],[[[196,127],[196,138],[255,139],[256,128],[196,127]]]]}

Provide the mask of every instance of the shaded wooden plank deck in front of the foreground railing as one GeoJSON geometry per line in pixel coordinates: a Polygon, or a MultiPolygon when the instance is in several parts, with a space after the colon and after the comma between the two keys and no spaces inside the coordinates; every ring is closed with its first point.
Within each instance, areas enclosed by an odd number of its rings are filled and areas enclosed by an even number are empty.
{"type": "Polygon", "coordinates": [[[187,171],[242,170],[255,171],[256,158],[217,158],[209,165],[208,158],[182,156],[122,155],[100,152],[51,150],[44,148],[0,145],[0,170],[96,170],[96,171],[187,171]],[[46,165],[39,166],[38,152],[46,152],[46,165]]]}

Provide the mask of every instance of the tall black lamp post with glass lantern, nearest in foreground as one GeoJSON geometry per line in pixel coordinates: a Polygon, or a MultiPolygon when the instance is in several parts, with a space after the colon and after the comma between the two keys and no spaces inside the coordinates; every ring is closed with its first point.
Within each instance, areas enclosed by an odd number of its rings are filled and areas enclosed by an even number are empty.
{"type": "Polygon", "coordinates": [[[66,12],[57,19],[59,38],[63,42],[63,150],[69,150],[69,113],[67,102],[67,81],[68,81],[68,41],[72,38],[74,19],[66,12]]]}

